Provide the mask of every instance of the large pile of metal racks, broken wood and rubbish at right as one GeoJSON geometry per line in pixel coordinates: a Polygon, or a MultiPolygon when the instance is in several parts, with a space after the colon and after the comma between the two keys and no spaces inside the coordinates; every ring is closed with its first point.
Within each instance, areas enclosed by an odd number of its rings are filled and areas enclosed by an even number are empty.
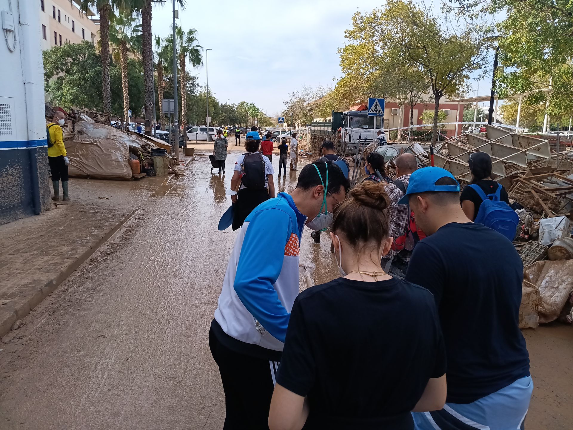
{"type": "Polygon", "coordinates": [[[573,323],[573,152],[557,153],[547,140],[486,126],[485,138],[465,133],[446,140],[434,154],[435,166],[465,185],[468,159],[477,151],[492,158],[494,180],[520,218],[514,241],[524,264],[520,327],[573,323]]]}

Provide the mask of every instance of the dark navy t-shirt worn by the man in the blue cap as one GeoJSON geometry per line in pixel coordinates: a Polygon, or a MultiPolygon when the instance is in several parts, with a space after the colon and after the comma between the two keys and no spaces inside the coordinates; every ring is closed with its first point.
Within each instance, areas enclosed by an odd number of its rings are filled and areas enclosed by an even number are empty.
{"type": "Polygon", "coordinates": [[[523,263],[507,238],[482,224],[446,224],[416,244],[406,280],[438,304],[446,401],[471,403],[529,375],[518,327],[523,263]]]}

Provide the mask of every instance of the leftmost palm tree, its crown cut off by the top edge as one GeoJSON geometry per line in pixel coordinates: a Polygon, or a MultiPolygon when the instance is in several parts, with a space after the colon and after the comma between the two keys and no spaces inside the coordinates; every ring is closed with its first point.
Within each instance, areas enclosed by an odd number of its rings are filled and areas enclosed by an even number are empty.
{"type": "Polygon", "coordinates": [[[100,15],[101,43],[101,90],[104,103],[104,114],[111,114],[111,89],[109,87],[109,18],[115,7],[124,7],[125,0],[81,0],[80,10],[87,13],[95,8],[100,15]]]}

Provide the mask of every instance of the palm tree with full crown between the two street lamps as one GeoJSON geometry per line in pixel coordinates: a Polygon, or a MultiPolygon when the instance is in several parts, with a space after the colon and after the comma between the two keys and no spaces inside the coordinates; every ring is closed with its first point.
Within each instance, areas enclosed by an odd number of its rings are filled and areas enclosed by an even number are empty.
{"type": "MultiPolygon", "coordinates": [[[[203,56],[201,50],[203,47],[197,45],[197,30],[190,29],[187,33],[179,26],[175,26],[175,46],[177,48],[177,60],[179,61],[180,82],[181,82],[181,123],[183,130],[187,127],[187,76],[186,76],[186,61],[189,60],[192,67],[198,67],[203,64],[203,56]]],[[[168,57],[166,61],[173,59],[173,37],[171,35],[166,38],[166,53],[168,57]]],[[[183,133],[183,136],[187,136],[183,133]]]]}

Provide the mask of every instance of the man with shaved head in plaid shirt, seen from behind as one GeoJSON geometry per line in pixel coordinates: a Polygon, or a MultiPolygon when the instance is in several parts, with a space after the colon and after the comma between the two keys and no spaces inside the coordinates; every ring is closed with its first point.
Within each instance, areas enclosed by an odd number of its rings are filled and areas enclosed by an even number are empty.
{"type": "MultiPolygon", "coordinates": [[[[405,194],[410,182],[410,175],[418,169],[418,163],[414,154],[401,154],[395,160],[396,165],[396,179],[393,182],[386,184],[386,193],[390,197],[390,208],[388,208],[388,215],[390,220],[390,236],[394,241],[406,233],[408,228],[408,221],[410,216],[410,209],[408,205],[399,205],[400,200],[405,194]]],[[[410,262],[412,251],[402,249],[390,249],[390,252],[382,259],[382,267],[385,268],[389,262],[392,262],[392,267],[398,269],[402,273],[406,273],[406,268],[410,262]]],[[[387,267],[390,270],[390,267],[387,267]]],[[[401,275],[402,273],[399,273],[401,275]]]]}

